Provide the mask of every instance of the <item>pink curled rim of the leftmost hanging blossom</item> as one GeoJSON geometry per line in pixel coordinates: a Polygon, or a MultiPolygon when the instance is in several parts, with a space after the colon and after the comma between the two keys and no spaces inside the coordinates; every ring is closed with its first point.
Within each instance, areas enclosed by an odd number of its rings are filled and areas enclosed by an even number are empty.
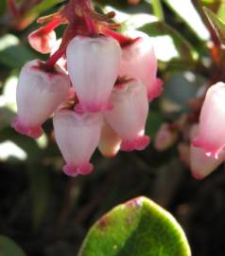
{"type": "Polygon", "coordinates": [[[42,126],[28,127],[18,118],[12,121],[11,127],[14,128],[16,132],[28,137],[37,138],[43,135],[42,126]]]}

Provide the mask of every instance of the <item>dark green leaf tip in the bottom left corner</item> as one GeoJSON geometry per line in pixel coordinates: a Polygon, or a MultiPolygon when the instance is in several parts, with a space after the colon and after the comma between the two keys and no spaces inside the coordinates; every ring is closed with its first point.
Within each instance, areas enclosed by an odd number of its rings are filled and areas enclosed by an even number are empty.
{"type": "Polygon", "coordinates": [[[22,248],[18,247],[9,237],[0,235],[1,256],[26,256],[22,248]]]}

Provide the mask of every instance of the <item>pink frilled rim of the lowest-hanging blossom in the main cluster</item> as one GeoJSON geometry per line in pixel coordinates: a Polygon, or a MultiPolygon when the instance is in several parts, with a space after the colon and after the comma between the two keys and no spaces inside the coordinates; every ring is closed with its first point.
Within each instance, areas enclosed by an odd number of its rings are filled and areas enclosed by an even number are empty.
{"type": "Polygon", "coordinates": [[[76,177],[78,174],[88,175],[93,172],[94,166],[91,163],[84,163],[82,165],[75,165],[67,163],[63,168],[63,173],[72,177],[76,177]]]}

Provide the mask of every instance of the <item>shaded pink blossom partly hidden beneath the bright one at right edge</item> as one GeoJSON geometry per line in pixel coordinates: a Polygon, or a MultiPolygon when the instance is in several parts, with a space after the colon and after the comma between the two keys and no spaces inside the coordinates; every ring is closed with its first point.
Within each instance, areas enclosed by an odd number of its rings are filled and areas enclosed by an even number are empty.
{"type": "MultiPolygon", "coordinates": [[[[196,137],[199,133],[199,125],[194,125],[191,137],[196,137]]],[[[190,165],[193,176],[202,179],[211,174],[225,159],[225,151],[220,151],[217,159],[212,155],[207,156],[201,148],[191,145],[190,165]]]]}

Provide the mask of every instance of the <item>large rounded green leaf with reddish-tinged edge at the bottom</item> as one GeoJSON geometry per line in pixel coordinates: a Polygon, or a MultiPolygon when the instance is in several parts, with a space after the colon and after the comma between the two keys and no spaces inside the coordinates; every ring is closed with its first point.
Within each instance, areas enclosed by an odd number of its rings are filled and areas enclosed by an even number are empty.
{"type": "Polygon", "coordinates": [[[90,229],[78,256],[190,256],[182,228],[160,206],[138,197],[119,205],[90,229]]]}

